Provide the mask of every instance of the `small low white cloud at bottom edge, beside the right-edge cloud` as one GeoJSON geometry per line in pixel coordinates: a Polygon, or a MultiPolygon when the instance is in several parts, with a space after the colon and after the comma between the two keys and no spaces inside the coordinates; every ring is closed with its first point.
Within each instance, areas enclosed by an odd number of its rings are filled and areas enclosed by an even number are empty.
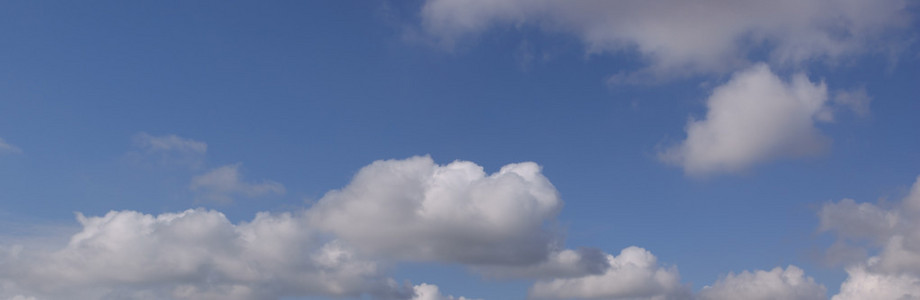
{"type": "Polygon", "coordinates": [[[827,290],[796,266],[728,274],[700,291],[700,300],[827,299],[827,290]]]}

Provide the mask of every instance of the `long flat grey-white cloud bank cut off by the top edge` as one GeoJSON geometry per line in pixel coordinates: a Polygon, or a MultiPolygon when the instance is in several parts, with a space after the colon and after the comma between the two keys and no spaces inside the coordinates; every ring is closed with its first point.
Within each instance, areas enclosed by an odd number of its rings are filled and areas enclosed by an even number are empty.
{"type": "MultiPolygon", "coordinates": [[[[909,26],[904,0],[554,1],[428,0],[422,29],[443,45],[496,25],[533,25],[578,37],[588,53],[637,52],[640,73],[727,72],[766,51],[795,64],[882,50],[882,33],[909,26]]],[[[642,74],[637,74],[642,75],[642,74]]],[[[642,77],[642,76],[639,76],[642,77]]]]}

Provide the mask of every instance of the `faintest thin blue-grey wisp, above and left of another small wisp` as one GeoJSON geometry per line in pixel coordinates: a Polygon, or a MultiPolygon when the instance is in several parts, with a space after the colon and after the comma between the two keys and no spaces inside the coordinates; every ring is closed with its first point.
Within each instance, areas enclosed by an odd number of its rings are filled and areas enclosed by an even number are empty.
{"type": "Polygon", "coordinates": [[[152,162],[160,165],[201,167],[208,144],[177,135],[153,136],[146,132],[132,138],[135,151],[128,153],[134,162],[152,162]]]}

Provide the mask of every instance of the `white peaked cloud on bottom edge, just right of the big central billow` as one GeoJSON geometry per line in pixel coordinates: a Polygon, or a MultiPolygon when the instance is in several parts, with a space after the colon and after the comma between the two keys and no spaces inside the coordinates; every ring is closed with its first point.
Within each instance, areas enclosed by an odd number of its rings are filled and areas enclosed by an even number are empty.
{"type": "Polygon", "coordinates": [[[645,249],[629,247],[620,255],[607,255],[609,267],[597,275],[539,281],[530,289],[537,299],[688,299],[689,288],[680,283],[674,267],[658,265],[645,249]]]}

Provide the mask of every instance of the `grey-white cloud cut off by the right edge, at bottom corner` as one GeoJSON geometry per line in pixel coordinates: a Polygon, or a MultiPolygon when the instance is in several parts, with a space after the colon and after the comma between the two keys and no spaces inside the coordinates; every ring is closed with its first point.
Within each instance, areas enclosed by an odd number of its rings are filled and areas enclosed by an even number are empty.
{"type": "Polygon", "coordinates": [[[899,203],[860,203],[844,199],[818,213],[821,231],[838,243],[877,250],[877,255],[847,267],[848,277],[834,300],[920,298],[920,177],[899,203]]]}

